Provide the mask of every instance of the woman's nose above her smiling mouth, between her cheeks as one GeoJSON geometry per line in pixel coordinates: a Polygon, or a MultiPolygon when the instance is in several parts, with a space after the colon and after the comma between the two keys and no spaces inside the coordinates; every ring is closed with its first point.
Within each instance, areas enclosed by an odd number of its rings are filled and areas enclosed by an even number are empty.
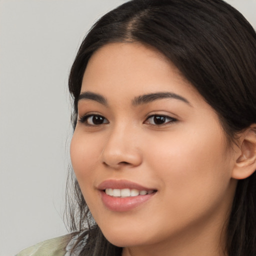
{"type": "Polygon", "coordinates": [[[140,165],[142,154],[134,130],[128,127],[113,129],[104,144],[101,160],[103,164],[114,169],[140,165]]]}

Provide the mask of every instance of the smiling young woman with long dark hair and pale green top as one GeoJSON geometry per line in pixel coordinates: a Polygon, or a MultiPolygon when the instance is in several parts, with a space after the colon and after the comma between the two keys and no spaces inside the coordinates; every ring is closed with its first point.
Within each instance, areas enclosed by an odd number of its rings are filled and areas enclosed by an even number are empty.
{"type": "Polygon", "coordinates": [[[256,34],[237,10],[124,3],[69,91],[74,232],[18,255],[256,255],[256,34]]]}

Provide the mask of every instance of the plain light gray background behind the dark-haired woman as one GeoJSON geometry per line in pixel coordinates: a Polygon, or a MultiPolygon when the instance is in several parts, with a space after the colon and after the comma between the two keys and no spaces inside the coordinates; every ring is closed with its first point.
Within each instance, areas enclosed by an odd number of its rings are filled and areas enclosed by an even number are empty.
{"type": "MultiPolygon", "coordinates": [[[[65,234],[68,70],[93,22],[125,0],[0,0],[0,256],[65,234]]],[[[256,0],[228,0],[256,27],[256,0]]]]}

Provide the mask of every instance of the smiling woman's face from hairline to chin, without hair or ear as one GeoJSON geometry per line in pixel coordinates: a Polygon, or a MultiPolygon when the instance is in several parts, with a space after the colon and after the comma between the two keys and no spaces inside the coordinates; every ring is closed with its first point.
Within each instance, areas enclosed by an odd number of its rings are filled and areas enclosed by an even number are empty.
{"type": "Polygon", "coordinates": [[[235,190],[234,156],[214,110],[156,50],[110,43],[92,55],[70,154],[111,243],[219,238],[235,190]]]}

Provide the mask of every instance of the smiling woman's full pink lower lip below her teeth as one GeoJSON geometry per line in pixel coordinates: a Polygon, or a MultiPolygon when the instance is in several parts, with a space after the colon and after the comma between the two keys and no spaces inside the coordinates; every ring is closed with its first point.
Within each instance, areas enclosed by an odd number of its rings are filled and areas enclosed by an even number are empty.
{"type": "Polygon", "coordinates": [[[155,192],[145,195],[115,197],[107,195],[104,191],[99,191],[103,204],[112,211],[128,211],[148,201],[155,192]]]}

